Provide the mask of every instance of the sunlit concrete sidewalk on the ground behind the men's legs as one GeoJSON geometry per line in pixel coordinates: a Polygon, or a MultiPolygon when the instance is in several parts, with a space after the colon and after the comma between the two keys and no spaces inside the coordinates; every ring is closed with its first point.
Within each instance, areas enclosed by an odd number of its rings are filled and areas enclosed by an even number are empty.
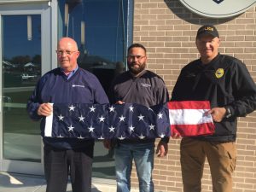
{"type": "MultiPolygon", "coordinates": [[[[9,172],[0,172],[1,192],[45,192],[46,185],[44,177],[22,175],[9,172]]],[[[98,183],[93,179],[91,192],[114,192],[115,182],[98,183]]],[[[136,192],[137,190],[132,190],[136,192]]],[[[71,184],[67,185],[67,192],[72,192],[71,184]]]]}

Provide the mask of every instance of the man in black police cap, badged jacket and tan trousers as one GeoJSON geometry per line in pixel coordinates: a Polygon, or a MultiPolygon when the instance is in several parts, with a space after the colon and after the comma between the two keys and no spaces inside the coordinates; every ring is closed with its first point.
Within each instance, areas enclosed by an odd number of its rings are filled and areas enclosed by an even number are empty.
{"type": "Polygon", "coordinates": [[[240,60],[218,53],[215,26],[201,26],[195,39],[200,59],[183,67],[172,91],[172,101],[209,101],[215,133],[183,137],[180,146],[183,192],[200,192],[207,157],[213,192],[232,191],[236,167],[237,117],[256,108],[256,86],[240,60]]]}

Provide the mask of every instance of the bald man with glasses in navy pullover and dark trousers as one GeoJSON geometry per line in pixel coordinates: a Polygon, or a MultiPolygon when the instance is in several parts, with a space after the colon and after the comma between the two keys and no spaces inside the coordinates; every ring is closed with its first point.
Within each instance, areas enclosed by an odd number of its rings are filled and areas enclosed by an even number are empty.
{"type": "Polygon", "coordinates": [[[103,104],[108,97],[98,79],[78,66],[78,45],[72,38],[61,38],[56,54],[60,67],[39,79],[27,103],[31,118],[42,119],[46,192],[66,192],[69,172],[73,192],[90,192],[94,140],[44,137],[45,116],[52,113],[49,103],[103,104]]]}

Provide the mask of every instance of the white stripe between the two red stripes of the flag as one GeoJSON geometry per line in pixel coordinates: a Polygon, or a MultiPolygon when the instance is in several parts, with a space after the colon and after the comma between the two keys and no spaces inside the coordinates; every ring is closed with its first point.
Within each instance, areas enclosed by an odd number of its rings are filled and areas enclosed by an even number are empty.
{"type": "Polygon", "coordinates": [[[209,109],[169,109],[171,125],[198,125],[212,123],[212,115],[205,115],[209,109]]]}

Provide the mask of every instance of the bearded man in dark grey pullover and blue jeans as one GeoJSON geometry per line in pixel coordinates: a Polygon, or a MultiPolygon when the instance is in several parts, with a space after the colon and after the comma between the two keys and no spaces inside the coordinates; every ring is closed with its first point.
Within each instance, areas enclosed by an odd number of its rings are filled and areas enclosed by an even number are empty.
{"type": "MultiPolygon", "coordinates": [[[[110,101],[142,104],[150,107],[169,101],[168,91],[163,79],[157,74],[145,70],[146,49],[142,44],[131,44],[128,48],[127,63],[129,71],[114,79],[110,91],[110,101]]],[[[154,166],[154,139],[122,140],[115,143],[115,172],[117,192],[131,190],[132,160],[137,168],[139,189],[141,192],[154,191],[152,171],[154,166]]],[[[167,154],[169,138],[163,138],[157,146],[156,154],[167,154]]],[[[106,148],[110,142],[104,141],[106,148]]]]}

